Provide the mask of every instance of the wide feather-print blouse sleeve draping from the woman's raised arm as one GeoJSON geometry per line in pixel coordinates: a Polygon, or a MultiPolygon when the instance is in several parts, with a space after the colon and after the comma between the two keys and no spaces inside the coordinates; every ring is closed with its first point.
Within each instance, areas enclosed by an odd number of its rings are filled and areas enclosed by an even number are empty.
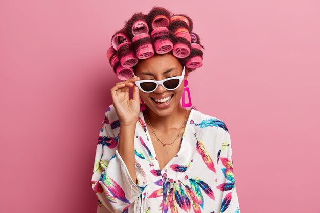
{"type": "Polygon", "coordinates": [[[98,196],[98,213],[133,209],[148,185],[146,175],[138,162],[135,162],[137,183],[133,182],[126,164],[118,153],[119,137],[115,137],[112,128],[107,111],[101,123],[91,178],[92,189],[98,196]]]}

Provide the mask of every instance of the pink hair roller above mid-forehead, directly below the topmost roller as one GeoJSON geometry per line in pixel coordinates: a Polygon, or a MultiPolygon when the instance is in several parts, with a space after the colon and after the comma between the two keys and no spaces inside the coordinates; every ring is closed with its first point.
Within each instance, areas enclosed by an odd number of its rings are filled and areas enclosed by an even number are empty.
{"type": "Polygon", "coordinates": [[[166,27],[158,27],[151,32],[154,49],[158,54],[165,54],[173,49],[173,43],[166,27]]]}

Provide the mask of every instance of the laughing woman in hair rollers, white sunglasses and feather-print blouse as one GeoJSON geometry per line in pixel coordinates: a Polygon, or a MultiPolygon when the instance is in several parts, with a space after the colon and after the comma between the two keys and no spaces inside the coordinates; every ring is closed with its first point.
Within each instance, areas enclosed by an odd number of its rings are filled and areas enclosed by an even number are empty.
{"type": "Polygon", "coordinates": [[[113,36],[108,58],[126,80],[111,88],[101,124],[92,176],[98,212],[240,212],[227,126],[186,109],[187,76],[203,54],[190,32],[188,16],[153,8],[113,36]]]}

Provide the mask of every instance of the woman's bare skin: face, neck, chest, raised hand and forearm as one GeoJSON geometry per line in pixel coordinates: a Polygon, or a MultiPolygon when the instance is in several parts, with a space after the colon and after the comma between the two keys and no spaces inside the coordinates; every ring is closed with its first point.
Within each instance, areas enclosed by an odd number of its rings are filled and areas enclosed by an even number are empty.
{"type": "MultiPolygon", "coordinates": [[[[149,118],[154,132],[165,144],[171,143],[178,134],[181,135],[183,133],[185,125],[182,127],[182,130],[181,125],[185,120],[185,116],[188,118],[190,110],[186,111],[180,104],[184,90],[183,82],[175,90],[166,90],[163,86],[159,85],[157,89],[151,93],[140,91],[134,82],[138,80],[159,81],[173,76],[181,76],[182,68],[182,65],[171,53],[154,55],[151,58],[141,60],[138,65],[136,65],[134,77],[116,83],[116,85],[111,88],[113,106],[115,106],[121,123],[117,150],[135,183],[134,134],[140,113],[139,95],[145,102],[145,113],[149,118]],[[168,70],[170,71],[166,72],[168,70]],[[130,87],[133,88],[132,99],[129,98],[130,87]],[[172,94],[173,97],[170,105],[166,108],[157,107],[156,103],[152,100],[152,98],[164,98],[172,94]]],[[[184,79],[187,79],[187,75],[188,72],[186,69],[184,79]]],[[[146,116],[145,121],[147,121],[146,116]]],[[[151,133],[151,126],[148,125],[148,122],[146,122],[146,124],[148,132],[151,133]]],[[[150,134],[150,137],[160,169],[162,170],[180,150],[180,143],[177,143],[177,141],[181,138],[177,138],[173,146],[163,146],[157,141],[154,134],[150,134]]]]}

